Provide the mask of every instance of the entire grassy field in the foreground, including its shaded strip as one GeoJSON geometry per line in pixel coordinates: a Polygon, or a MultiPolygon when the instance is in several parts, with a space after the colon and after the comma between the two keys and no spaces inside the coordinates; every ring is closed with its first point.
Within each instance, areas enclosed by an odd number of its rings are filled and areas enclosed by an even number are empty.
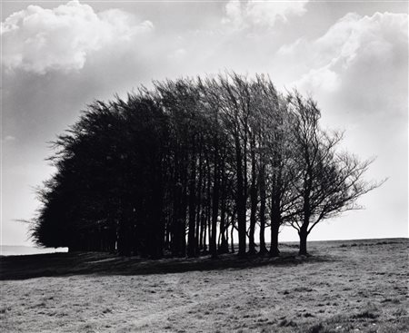
{"type": "Polygon", "coordinates": [[[311,242],[308,258],[2,257],[1,332],[409,332],[407,239],[311,242]]]}

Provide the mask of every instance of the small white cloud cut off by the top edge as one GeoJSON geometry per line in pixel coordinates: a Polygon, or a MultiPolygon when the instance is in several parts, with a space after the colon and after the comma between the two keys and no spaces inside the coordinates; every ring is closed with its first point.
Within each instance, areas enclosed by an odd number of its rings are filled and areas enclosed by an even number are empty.
{"type": "Polygon", "coordinates": [[[306,13],[304,1],[249,0],[241,2],[231,0],[224,6],[224,24],[234,28],[249,26],[273,27],[277,21],[287,22],[289,16],[301,16],[306,13]]]}

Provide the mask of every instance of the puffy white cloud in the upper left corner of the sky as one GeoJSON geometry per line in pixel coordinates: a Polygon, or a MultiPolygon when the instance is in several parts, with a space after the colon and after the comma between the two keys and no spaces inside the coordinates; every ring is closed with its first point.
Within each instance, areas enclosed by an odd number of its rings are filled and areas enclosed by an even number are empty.
{"type": "Polygon", "coordinates": [[[29,5],[1,24],[2,64],[34,73],[79,70],[93,52],[127,43],[152,29],[150,21],[138,23],[124,11],[95,13],[76,0],[54,9],[29,5]]]}

